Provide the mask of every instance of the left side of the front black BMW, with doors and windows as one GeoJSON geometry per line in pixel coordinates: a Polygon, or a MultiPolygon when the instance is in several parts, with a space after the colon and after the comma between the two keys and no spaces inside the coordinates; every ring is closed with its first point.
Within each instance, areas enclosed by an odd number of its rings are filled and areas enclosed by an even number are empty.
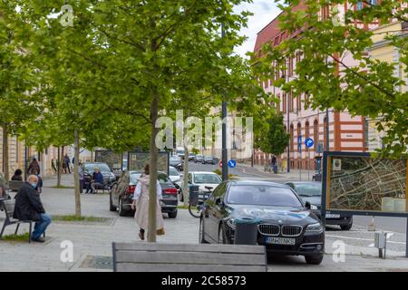
{"type": "Polygon", "coordinates": [[[221,200],[224,200],[226,189],[227,183],[221,183],[219,187],[212,192],[210,202],[206,208],[208,218],[204,227],[206,227],[206,234],[211,237],[214,243],[217,243],[219,239],[219,222],[222,217],[222,208],[217,204],[217,199],[220,198],[221,200]]]}

